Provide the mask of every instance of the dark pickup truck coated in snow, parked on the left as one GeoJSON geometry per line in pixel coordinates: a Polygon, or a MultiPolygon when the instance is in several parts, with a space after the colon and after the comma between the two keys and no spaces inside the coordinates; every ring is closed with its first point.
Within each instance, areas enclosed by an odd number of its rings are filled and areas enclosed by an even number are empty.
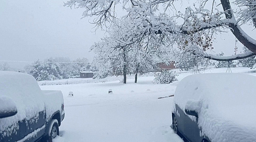
{"type": "Polygon", "coordinates": [[[0,142],[51,142],[64,115],[61,91],[42,91],[29,74],[0,71],[0,142]]]}

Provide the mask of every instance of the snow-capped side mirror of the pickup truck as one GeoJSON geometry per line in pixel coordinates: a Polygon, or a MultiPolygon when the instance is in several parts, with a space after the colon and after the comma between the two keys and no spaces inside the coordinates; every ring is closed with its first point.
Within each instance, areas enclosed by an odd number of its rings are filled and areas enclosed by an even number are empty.
{"type": "Polygon", "coordinates": [[[0,96],[0,119],[17,114],[17,106],[8,96],[0,96]]]}

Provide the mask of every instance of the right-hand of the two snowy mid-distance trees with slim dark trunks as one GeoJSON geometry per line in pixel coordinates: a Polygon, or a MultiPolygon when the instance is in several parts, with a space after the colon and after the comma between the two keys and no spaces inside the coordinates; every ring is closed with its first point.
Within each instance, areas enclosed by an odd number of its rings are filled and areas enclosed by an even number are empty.
{"type": "Polygon", "coordinates": [[[158,70],[157,63],[170,61],[171,51],[166,46],[166,43],[151,38],[151,36],[147,36],[132,44],[130,64],[132,73],[135,74],[135,83],[137,83],[138,74],[144,74],[150,70],[158,70]]]}

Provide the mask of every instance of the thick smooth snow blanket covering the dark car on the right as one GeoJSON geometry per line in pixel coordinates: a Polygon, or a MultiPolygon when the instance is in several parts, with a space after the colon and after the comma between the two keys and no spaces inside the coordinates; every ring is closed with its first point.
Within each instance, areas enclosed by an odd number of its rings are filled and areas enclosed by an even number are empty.
{"type": "Polygon", "coordinates": [[[247,74],[194,74],[180,81],[174,102],[183,111],[188,101],[200,102],[198,125],[212,142],[255,141],[255,83],[256,76],[247,74]]]}

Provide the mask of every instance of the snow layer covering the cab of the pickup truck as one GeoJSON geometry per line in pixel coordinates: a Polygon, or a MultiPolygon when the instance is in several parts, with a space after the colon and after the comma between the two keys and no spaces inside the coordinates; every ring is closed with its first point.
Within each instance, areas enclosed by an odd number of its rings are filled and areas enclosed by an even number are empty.
{"type": "MultiPolygon", "coordinates": [[[[31,119],[44,110],[42,92],[35,78],[20,72],[0,71],[0,96],[10,97],[17,106],[17,114],[0,119],[0,132],[11,134],[18,121],[31,119]]],[[[37,118],[33,119],[37,121],[37,118]]]]}

